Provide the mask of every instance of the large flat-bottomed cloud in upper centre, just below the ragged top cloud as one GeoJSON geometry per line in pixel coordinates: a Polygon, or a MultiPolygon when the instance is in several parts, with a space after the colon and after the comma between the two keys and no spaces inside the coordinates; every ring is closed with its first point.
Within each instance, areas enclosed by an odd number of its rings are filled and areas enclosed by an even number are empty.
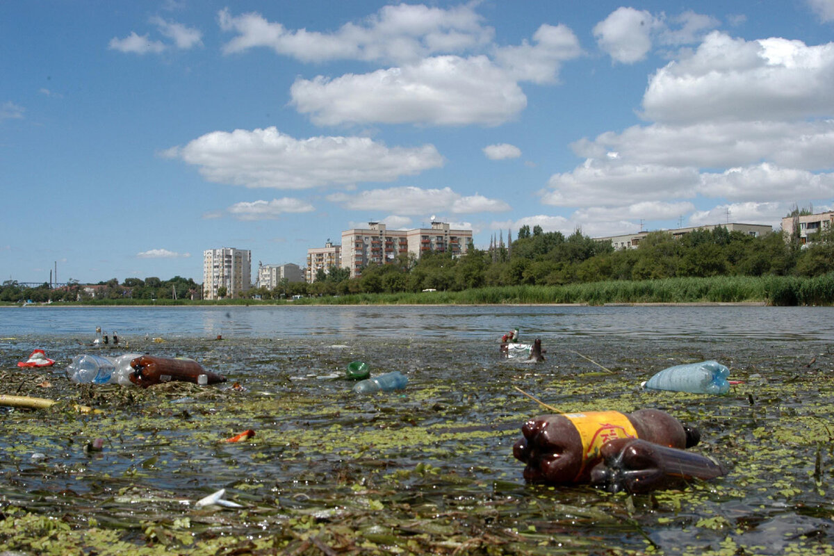
{"type": "Polygon", "coordinates": [[[296,79],[291,104],[318,125],[498,125],[527,105],[518,83],[485,56],[426,58],[402,68],[296,79]],[[489,83],[489,86],[485,86],[489,83]]]}

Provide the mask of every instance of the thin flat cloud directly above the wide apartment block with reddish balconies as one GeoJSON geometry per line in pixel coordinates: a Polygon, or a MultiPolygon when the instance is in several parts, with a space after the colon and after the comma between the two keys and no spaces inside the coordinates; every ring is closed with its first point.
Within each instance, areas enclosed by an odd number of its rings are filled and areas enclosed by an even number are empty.
{"type": "Polygon", "coordinates": [[[496,213],[510,210],[500,199],[482,195],[463,196],[451,188],[423,189],[415,187],[372,189],[356,194],[334,193],[327,197],[342,208],[398,215],[420,215],[449,210],[454,214],[496,213]]]}

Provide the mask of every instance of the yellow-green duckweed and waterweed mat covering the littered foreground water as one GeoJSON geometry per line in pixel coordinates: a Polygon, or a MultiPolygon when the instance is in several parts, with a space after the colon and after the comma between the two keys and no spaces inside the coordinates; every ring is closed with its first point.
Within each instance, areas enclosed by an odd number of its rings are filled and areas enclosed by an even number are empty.
{"type": "Polygon", "coordinates": [[[140,389],[66,378],[73,355],[105,350],[0,340],[0,393],[58,400],[0,408],[0,552],[834,554],[831,346],[545,338],[545,350],[526,363],[492,342],[138,341],[130,352],[229,378],[140,389]],[[33,348],[58,363],[18,369],[33,348]],[[639,388],[704,359],[743,383],[718,397],[639,388]],[[372,376],[399,370],[407,388],[351,392],[355,360],[372,376]],[[525,484],[512,445],[548,412],[514,386],[562,411],[665,410],[730,473],[635,496],[525,484]],[[241,508],[195,504],[221,488],[241,508]]]}

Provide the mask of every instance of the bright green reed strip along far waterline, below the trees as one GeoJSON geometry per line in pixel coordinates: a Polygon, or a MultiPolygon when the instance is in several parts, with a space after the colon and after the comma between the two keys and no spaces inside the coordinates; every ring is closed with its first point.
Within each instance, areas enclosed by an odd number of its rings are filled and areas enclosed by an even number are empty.
{"type": "MultiPolygon", "coordinates": [[[[92,299],[89,305],[404,305],[504,303],[766,303],[768,305],[834,304],[834,273],[815,278],[796,276],[718,276],[610,280],[563,286],[495,286],[460,292],[353,293],[287,300],[223,299],[92,299]]],[[[74,305],[75,303],[55,303],[74,305]]]]}

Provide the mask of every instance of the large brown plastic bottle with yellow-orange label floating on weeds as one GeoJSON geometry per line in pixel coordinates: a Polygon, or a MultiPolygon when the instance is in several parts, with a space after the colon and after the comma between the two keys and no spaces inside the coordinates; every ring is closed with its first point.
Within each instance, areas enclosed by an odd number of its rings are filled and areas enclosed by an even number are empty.
{"type": "Polygon", "coordinates": [[[600,448],[615,438],[642,438],[670,448],[690,448],[701,439],[697,429],[659,409],[541,415],[527,421],[521,433],[513,455],[527,464],[524,478],[530,483],[588,482],[600,448]]]}

